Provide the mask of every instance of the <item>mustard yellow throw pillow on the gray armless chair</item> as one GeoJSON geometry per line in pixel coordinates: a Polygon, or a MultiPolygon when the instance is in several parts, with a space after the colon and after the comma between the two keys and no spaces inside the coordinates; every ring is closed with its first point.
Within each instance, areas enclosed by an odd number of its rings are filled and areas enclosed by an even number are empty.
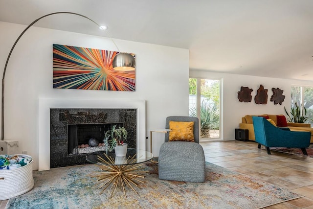
{"type": "Polygon", "coordinates": [[[194,123],[195,122],[182,122],[170,121],[170,141],[195,141],[194,139],[194,123]]]}

